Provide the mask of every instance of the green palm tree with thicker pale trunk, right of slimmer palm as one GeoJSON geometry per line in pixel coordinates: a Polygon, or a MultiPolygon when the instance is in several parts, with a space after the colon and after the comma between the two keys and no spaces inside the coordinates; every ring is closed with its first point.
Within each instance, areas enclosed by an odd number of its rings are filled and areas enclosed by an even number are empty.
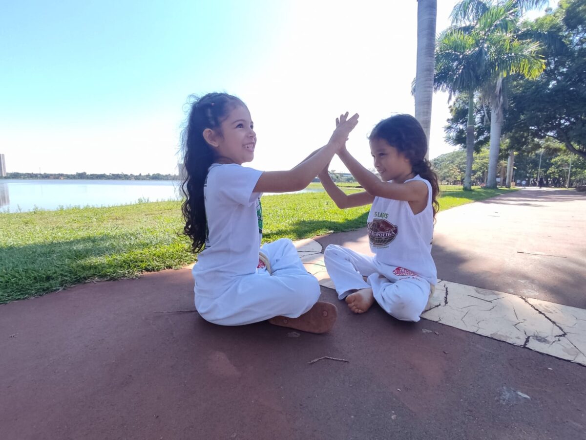
{"type": "Polygon", "coordinates": [[[490,153],[487,187],[496,187],[506,77],[520,74],[529,79],[545,68],[539,43],[519,38],[519,19],[527,9],[546,5],[547,0],[462,0],[452,10],[452,23],[467,35],[486,32],[483,58],[488,79],[484,96],[490,101],[490,153]]]}

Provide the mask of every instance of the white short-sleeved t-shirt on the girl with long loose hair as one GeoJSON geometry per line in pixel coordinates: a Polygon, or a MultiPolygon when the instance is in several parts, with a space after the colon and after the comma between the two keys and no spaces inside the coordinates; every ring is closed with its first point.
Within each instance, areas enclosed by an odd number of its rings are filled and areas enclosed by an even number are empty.
{"type": "Polygon", "coordinates": [[[195,290],[212,295],[234,276],[257,271],[263,236],[263,209],[253,192],[263,171],[237,164],[212,164],[203,187],[206,247],[193,266],[195,290]]]}

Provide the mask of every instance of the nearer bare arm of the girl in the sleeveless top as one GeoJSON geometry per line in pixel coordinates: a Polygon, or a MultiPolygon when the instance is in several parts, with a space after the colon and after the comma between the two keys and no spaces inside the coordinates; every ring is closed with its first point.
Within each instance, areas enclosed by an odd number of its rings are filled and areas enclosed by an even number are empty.
{"type": "Polygon", "coordinates": [[[411,181],[403,184],[383,182],[376,175],[364,168],[352,154],[342,148],[338,153],[346,168],[352,173],[360,185],[374,197],[384,197],[393,200],[408,202],[427,201],[427,185],[421,181],[411,181]]]}

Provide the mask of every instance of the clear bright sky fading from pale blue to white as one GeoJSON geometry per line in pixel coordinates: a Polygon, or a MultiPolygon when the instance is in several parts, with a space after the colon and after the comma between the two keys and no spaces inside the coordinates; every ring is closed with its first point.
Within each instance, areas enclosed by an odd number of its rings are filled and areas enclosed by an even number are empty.
{"type": "MultiPolygon", "coordinates": [[[[438,1],[437,32],[455,3],[438,1]]],[[[247,103],[260,170],[297,164],[346,110],[360,113],[348,147],[370,166],[374,124],[414,114],[415,0],[6,1],[0,41],[8,172],[174,174],[190,94],[247,103]]],[[[454,150],[447,117],[435,94],[432,158],[454,150]]]]}

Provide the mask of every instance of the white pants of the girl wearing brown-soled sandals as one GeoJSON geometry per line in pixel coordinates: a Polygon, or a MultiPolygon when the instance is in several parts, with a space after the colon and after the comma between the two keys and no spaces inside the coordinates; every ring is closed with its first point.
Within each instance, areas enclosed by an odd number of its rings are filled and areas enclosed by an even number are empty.
{"type": "Polygon", "coordinates": [[[195,295],[197,312],[222,326],[240,326],[274,316],[296,318],[319,299],[318,280],[305,270],[297,249],[289,239],[267,243],[261,251],[271,263],[272,275],[265,269],[234,277],[219,295],[195,295]]]}

